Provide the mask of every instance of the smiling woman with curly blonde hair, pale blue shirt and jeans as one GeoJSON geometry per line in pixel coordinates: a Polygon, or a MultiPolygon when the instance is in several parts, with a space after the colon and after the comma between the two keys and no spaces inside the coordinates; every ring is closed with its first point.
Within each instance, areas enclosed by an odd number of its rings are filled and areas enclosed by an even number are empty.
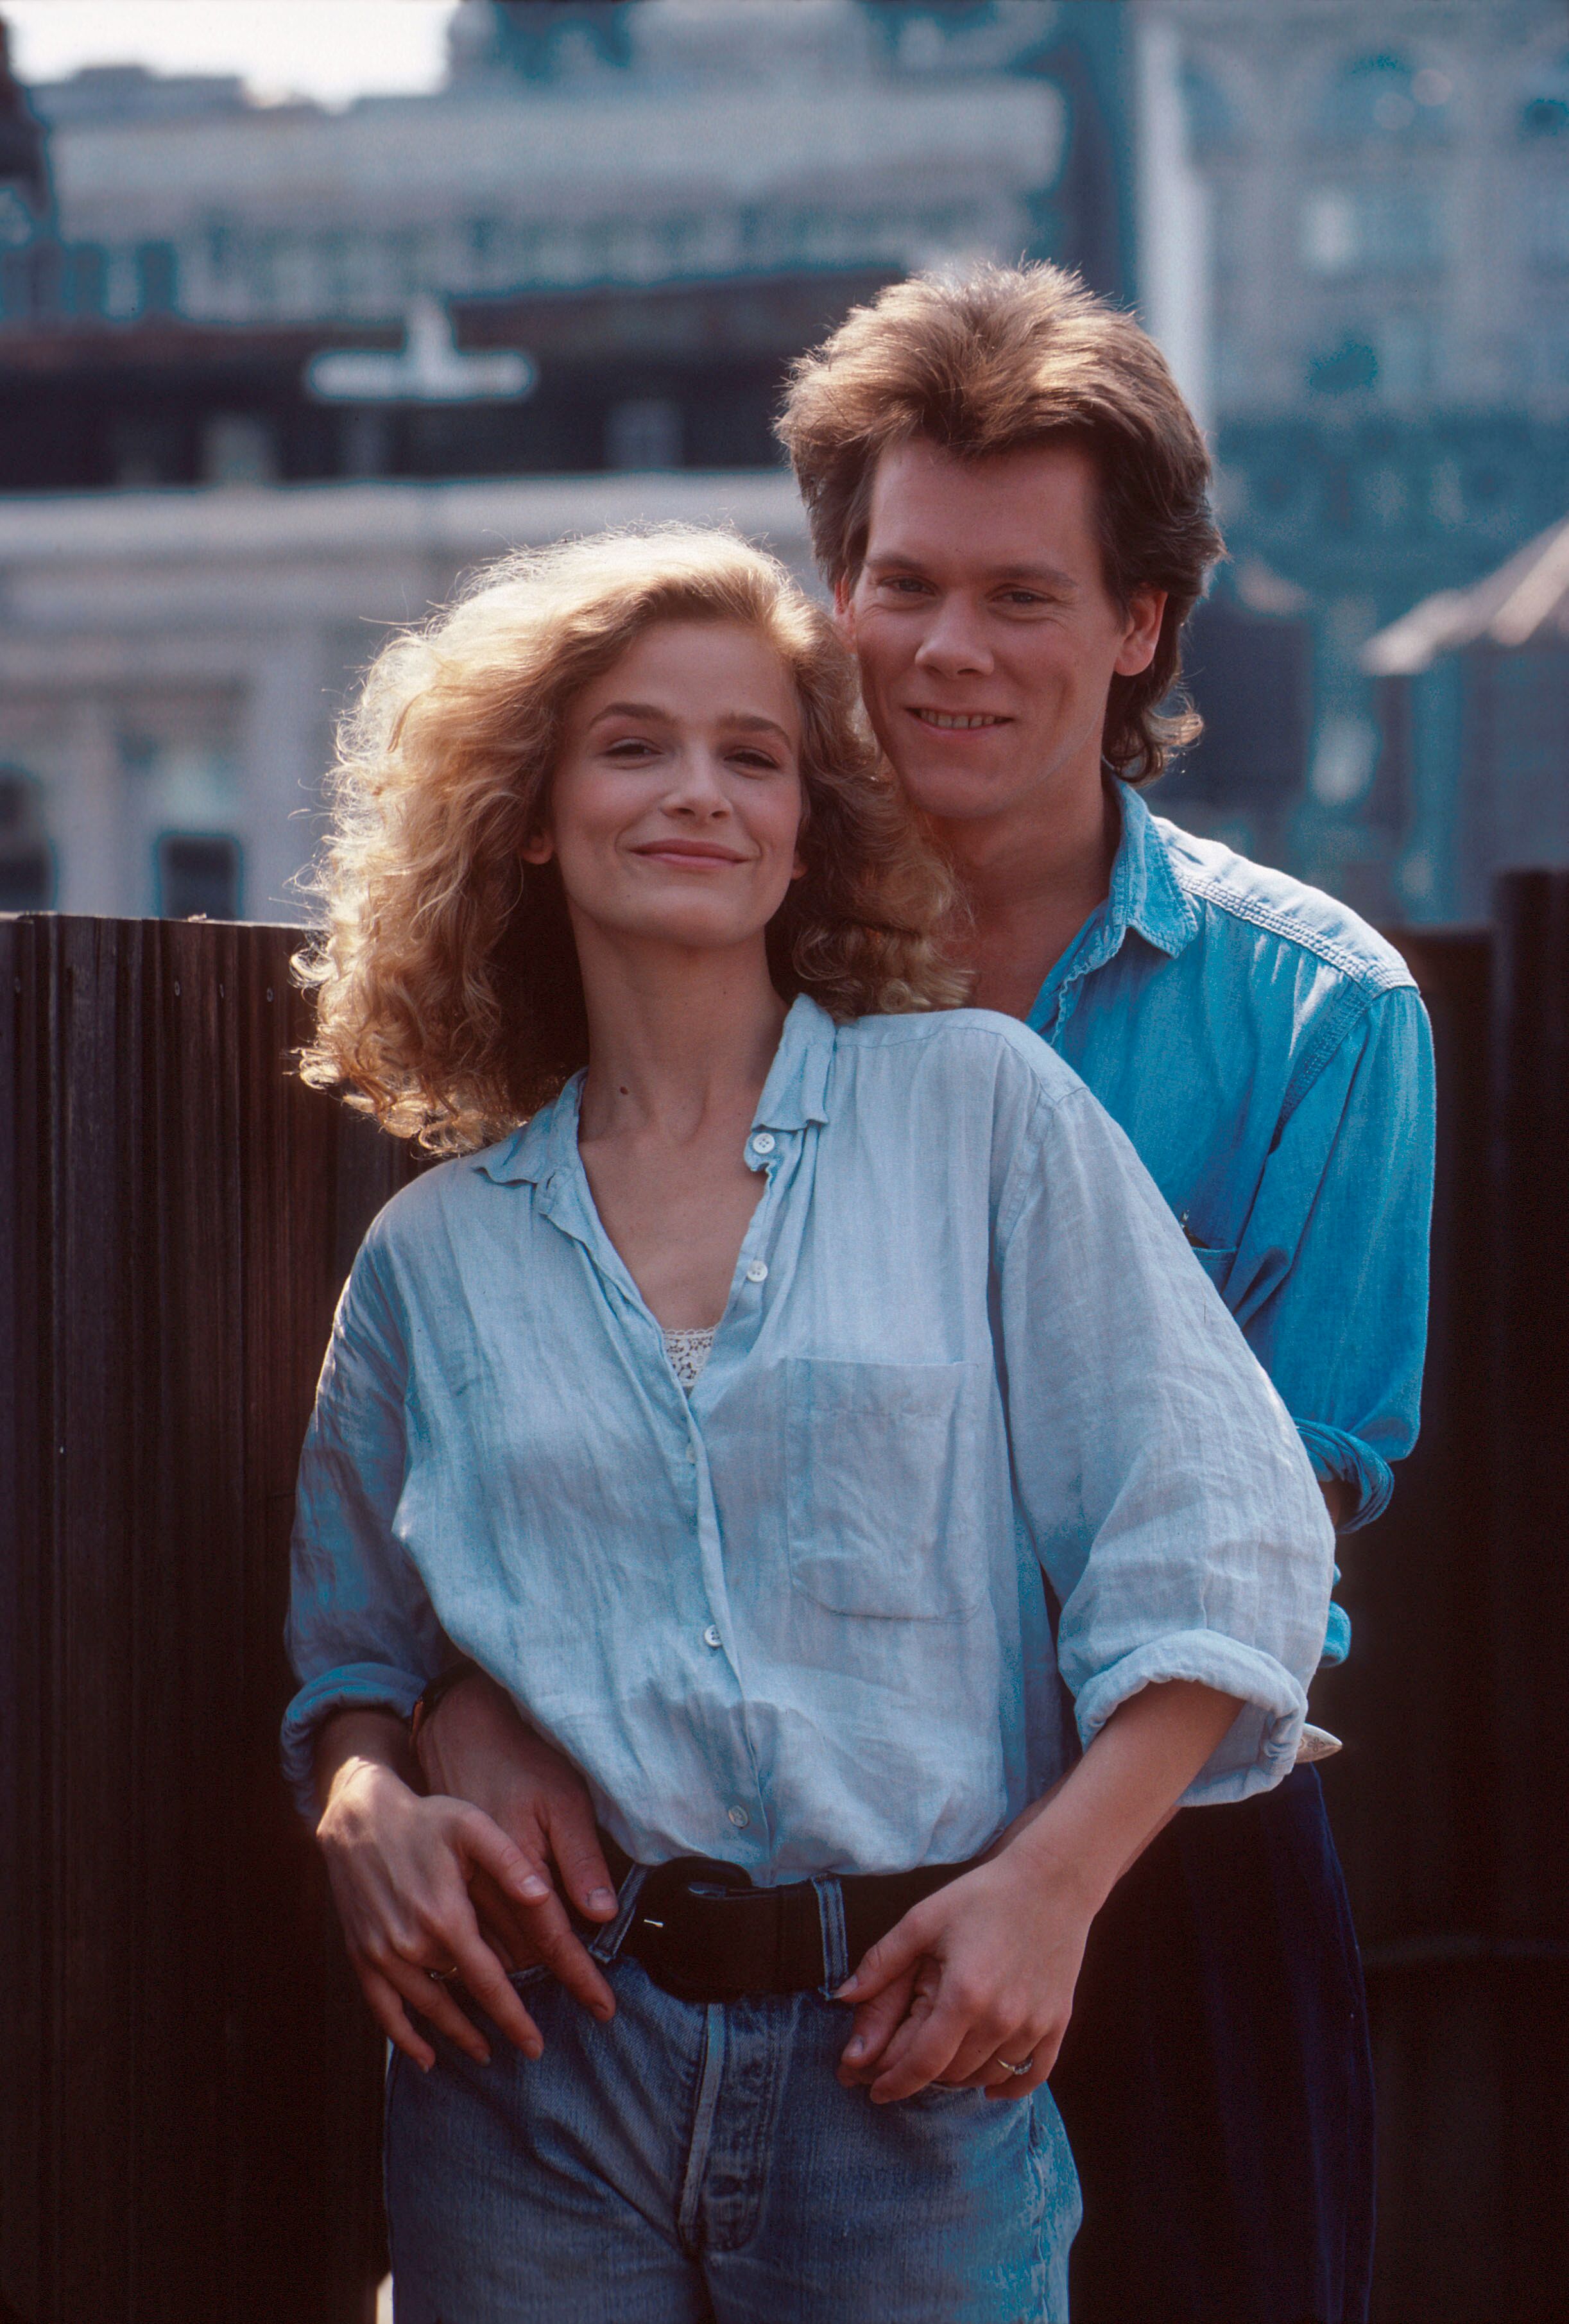
{"type": "Polygon", "coordinates": [[[781,567],[658,532],[481,576],[346,734],[307,1074],[456,1160],[339,1306],[286,1762],[404,2324],[1060,2319],[1086,1929],[1302,1729],[1306,1457],[1074,1074],[948,1006],[853,700],[781,567]],[[588,2010],[411,1783],[453,1657],[593,1789],[588,2010]]]}

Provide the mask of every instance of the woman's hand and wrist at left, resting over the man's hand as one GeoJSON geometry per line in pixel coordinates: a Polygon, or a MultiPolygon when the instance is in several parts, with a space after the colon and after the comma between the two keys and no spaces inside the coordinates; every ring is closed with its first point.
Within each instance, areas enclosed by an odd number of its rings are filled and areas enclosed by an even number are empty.
{"type": "Polygon", "coordinates": [[[518,2050],[539,2057],[539,2029],[470,1901],[470,1880],[483,1873],[497,1894],[523,1903],[530,1868],[479,1808],[411,1792],[400,1755],[402,1727],[381,1713],[342,1713],[318,1755],[328,1799],[316,1838],[365,2001],[416,2066],[435,2066],[435,2050],[409,2010],[483,2066],[490,2045],[446,1992],[456,1975],[518,2050]]]}

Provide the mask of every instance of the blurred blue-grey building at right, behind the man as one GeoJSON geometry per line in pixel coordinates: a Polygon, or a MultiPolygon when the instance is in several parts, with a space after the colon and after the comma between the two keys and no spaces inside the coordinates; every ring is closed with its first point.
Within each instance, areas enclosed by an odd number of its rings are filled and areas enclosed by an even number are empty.
{"type": "MultiPolygon", "coordinates": [[[[1141,21],[1199,193],[1197,393],[1234,558],[1195,641],[1213,732],[1172,813],[1376,920],[1476,911],[1499,862],[1564,858],[1564,816],[1499,809],[1469,825],[1497,839],[1481,858],[1464,823],[1434,841],[1364,646],[1569,509],[1569,19],[1146,0],[1141,21]]],[[[1560,693],[1560,734],[1564,711],[1560,693]]]]}

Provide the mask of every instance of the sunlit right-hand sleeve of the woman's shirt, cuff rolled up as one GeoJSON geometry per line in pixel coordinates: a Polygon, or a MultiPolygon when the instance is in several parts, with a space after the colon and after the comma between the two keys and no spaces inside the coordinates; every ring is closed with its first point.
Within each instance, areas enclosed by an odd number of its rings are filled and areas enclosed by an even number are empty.
{"type": "Polygon", "coordinates": [[[1267,1789],[1297,1752],[1334,1555],[1285,1406],[1088,1090],[1041,1099],[997,1253],[1016,1485],[1081,1741],[1192,1678],[1244,1708],[1185,1803],[1267,1789]]]}

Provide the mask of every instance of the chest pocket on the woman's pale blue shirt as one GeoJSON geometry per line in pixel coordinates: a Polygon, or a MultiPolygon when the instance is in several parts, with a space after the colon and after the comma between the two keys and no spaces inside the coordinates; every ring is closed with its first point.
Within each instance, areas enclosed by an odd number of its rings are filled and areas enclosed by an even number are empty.
{"type": "Polygon", "coordinates": [[[965,1492],[969,1364],[786,1362],[790,1580],[830,1613],[951,1622],[986,1594],[965,1492]]]}

